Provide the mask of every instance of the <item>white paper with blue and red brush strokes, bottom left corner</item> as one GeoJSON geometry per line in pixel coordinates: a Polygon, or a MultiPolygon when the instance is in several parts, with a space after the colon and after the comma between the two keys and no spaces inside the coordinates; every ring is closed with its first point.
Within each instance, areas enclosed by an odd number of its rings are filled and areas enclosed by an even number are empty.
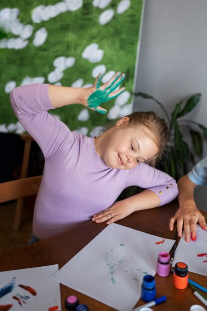
{"type": "Polygon", "coordinates": [[[50,265],[0,272],[0,307],[8,308],[2,310],[61,311],[60,284],[51,280],[57,269],[50,265]]]}

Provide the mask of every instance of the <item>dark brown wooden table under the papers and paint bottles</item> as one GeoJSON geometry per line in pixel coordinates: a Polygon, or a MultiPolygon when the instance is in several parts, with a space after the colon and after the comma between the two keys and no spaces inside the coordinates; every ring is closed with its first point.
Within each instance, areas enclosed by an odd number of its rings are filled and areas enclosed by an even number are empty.
{"type": "MultiPolygon", "coordinates": [[[[130,227],[145,233],[154,234],[160,237],[174,239],[174,232],[168,229],[169,219],[175,214],[178,208],[177,202],[171,202],[165,206],[136,212],[117,224],[130,227]]],[[[202,212],[207,219],[207,213],[202,212]]],[[[64,266],[77,252],[89,243],[107,225],[87,222],[77,228],[70,229],[66,233],[59,234],[30,246],[8,252],[0,256],[0,271],[31,268],[44,265],[59,264],[64,266]]],[[[195,282],[207,286],[207,277],[190,272],[189,278],[195,282]]],[[[173,276],[163,278],[155,275],[156,297],[167,296],[167,301],[153,307],[155,311],[189,311],[192,305],[202,305],[194,295],[191,288],[178,290],[173,286],[173,276]]],[[[85,296],[67,286],[61,284],[62,311],[65,311],[65,299],[69,295],[76,295],[80,303],[88,306],[90,311],[112,311],[108,307],[88,296],[85,296]]],[[[140,299],[136,307],[143,305],[140,299]]]]}

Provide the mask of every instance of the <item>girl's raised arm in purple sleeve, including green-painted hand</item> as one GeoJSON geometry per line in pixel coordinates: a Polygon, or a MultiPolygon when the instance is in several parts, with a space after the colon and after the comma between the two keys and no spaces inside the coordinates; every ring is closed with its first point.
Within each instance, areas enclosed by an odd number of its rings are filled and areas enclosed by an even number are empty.
{"type": "Polygon", "coordinates": [[[100,107],[100,103],[117,97],[125,90],[125,87],[115,90],[124,78],[125,75],[117,73],[100,86],[99,75],[93,86],[88,88],[48,84],[22,85],[11,91],[10,102],[19,122],[35,139],[45,158],[48,158],[65,146],[71,146],[75,139],[68,126],[49,114],[48,110],[79,103],[105,113],[106,110],[100,107]]]}

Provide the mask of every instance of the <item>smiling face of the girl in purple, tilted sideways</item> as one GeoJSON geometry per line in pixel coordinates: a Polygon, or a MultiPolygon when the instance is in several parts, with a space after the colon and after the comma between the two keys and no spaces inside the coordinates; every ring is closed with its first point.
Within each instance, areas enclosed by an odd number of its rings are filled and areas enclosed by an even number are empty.
{"type": "Polygon", "coordinates": [[[95,143],[97,154],[111,168],[132,169],[158,153],[149,130],[143,126],[128,126],[128,121],[128,117],[122,118],[115,127],[103,134],[100,144],[95,143]]]}

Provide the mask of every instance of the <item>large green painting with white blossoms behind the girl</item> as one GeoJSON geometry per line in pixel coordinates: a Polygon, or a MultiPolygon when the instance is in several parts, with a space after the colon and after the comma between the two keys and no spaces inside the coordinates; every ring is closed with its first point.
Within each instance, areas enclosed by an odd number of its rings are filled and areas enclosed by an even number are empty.
{"type": "Polygon", "coordinates": [[[52,110],[71,130],[93,136],[133,110],[132,96],[142,0],[1,0],[0,132],[24,129],[9,104],[15,86],[51,83],[87,87],[99,73],[126,78],[126,91],[101,115],[80,105],[52,110]]]}

